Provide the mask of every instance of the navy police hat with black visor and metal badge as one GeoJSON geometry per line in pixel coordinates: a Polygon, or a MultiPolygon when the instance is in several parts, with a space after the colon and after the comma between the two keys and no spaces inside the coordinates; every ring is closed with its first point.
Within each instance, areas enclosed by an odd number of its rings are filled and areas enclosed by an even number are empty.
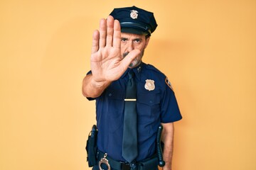
{"type": "Polygon", "coordinates": [[[114,8],[110,16],[119,21],[122,33],[150,36],[157,27],[154,13],[136,6],[114,8]]]}

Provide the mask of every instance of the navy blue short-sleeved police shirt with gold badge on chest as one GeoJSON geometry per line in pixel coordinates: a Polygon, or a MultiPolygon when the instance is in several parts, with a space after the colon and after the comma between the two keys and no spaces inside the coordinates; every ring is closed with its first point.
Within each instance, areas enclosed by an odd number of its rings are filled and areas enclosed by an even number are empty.
{"type": "MultiPolygon", "coordinates": [[[[132,69],[137,82],[138,157],[141,161],[156,152],[156,132],[160,123],[181,120],[178,103],[166,76],[151,64],[140,64],[132,69]],[[154,81],[154,82],[153,82],[154,81]],[[145,88],[151,86],[153,90],[145,88]]],[[[98,128],[97,147],[114,160],[122,158],[124,97],[128,74],[113,81],[96,99],[98,128]]],[[[88,72],[91,74],[91,72],[88,72]]]]}

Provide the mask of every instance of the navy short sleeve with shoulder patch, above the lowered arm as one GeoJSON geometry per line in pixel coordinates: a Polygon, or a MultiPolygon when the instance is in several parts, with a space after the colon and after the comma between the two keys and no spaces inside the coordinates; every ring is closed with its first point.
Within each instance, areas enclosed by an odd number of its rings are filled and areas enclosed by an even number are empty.
{"type": "Polygon", "coordinates": [[[164,95],[161,98],[161,123],[173,123],[181,120],[181,118],[181,112],[178,108],[174,91],[167,80],[164,95]]]}

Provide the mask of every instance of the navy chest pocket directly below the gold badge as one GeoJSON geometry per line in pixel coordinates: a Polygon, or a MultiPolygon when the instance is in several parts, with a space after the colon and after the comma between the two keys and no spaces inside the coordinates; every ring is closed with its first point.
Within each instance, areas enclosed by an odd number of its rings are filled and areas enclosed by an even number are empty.
{"type": "Polygon", "coordinates": [[[153,123],[160,116],[160,94],[139,94],[138,111],[142,123],[153,123]]]}

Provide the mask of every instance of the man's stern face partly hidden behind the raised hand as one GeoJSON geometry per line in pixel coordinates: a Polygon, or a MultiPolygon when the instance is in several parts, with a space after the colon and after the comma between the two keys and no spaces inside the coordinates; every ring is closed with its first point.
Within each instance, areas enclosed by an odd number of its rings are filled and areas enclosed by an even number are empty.
{"type": "Polygon", "coordinates": [[[121,54],[126,57],[129,52],[134,49],[140,50],[140,54],[129,64],[129,68],[137,67],[142,62],[144,50],[149,43],[150,38],[145,35],[137,35],[132,33],[121,33],[121,54]]]}

